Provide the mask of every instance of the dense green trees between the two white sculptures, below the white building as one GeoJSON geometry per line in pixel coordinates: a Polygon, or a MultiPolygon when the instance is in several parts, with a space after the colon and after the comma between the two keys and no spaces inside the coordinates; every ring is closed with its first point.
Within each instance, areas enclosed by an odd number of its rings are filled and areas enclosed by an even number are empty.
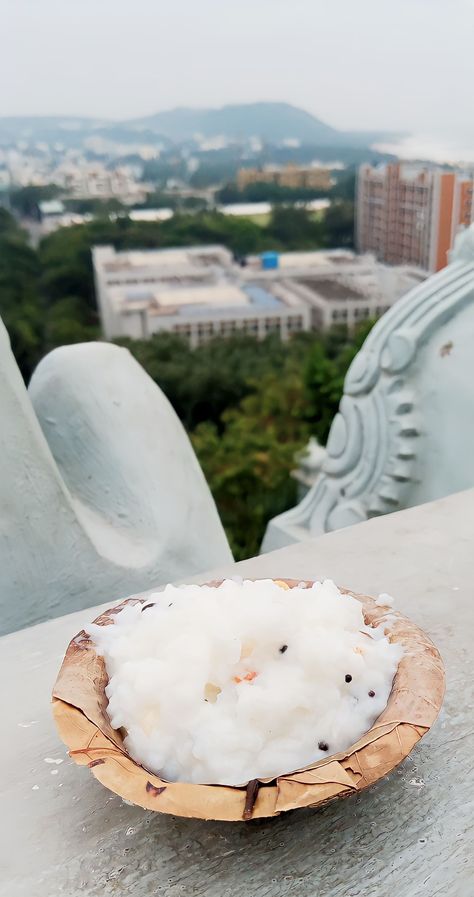
{"type": "Polygon", "coordinates": [[[350,362],[370,329],[216,339],[127,341],[190,433],[236,558],[258,552],[265,526],[296,501],[295,453],[325,443],[350,362]]]}

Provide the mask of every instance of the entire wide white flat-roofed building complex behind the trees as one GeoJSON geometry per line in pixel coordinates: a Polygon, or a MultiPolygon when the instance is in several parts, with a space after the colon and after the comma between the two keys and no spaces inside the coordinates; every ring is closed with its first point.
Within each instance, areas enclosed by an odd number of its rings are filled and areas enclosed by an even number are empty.
{"type": "Polygon", "coordinates": [[[424,273],[388,267],[348,250],[265,253],[236,264],[222,246],[117,252],[92,250],[107,339],[181,334],[192,346],[212,337],[353,327],[387,311],[424,273]]]}

